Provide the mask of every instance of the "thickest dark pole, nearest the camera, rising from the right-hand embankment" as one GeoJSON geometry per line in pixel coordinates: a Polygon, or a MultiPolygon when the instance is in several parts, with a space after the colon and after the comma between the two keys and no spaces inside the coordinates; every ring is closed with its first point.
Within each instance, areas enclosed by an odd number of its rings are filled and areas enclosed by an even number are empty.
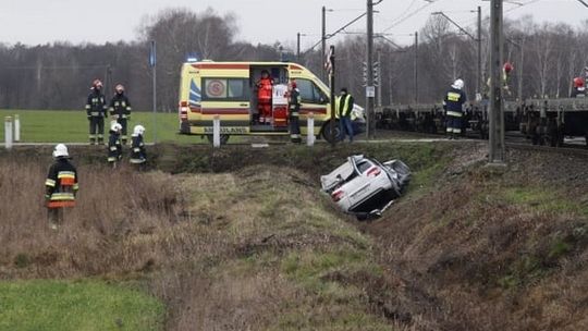
{"type": "Polygon", "coordinates": [[[490,3],[490,152],[489,162],[504,164],[504,112],[502,102],[502,0],[490,3]]]}

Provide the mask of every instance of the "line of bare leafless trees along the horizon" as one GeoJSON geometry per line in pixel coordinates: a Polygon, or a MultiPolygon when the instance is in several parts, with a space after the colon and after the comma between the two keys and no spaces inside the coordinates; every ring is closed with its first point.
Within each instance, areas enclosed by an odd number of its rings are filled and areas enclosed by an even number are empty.
{"type": "MultiPolygon", "coordinates": [[[[485,25],[488,25],[487,20],[485,25]]],[[[578,27],[537,23],[530,16],[506,21],[504,56],[515,68],[507,98],[566,97],[572,79],[580,76],[588,65],[587,27],[588,21],[578,27]]],[[[180,66],[188,54],[215,61],[296,61],[294,49],[284,52],[278,41],[252,45],[237,40],[237,33],[233,14],[221,15],[211,9],[203,12],[168,9],[145,19],[134,41],[0,45],[0,108],[82,110],[91,81],[101,78],[107,96],[121,83],[135,109],[149,110],[151,40],[157,42],[157,107],[160,111],[175,111],[180,66]]],[[[439,101],[455,78],[466,82],[466,91],[473,99],[477,79],[476,40],[457,34],[442,16],[431,16],[418,35],[418,48],[399,46],[393,37],[376,38],[381,103],[439,101]]],[[[474,30],[471,35],[476,35],[474,30]]],[[[481,35],[481,79],[486,82],[487,27],[481,35]]],[[[365,100],[362,63],[365,41],[365,36],[350,35],[335,44],[336,86],[347,87],[359,103],[365,100]]],[[[299,62],[321,76],[323,59],[321,52],[314,49],[303,51],[299,62]]]]}

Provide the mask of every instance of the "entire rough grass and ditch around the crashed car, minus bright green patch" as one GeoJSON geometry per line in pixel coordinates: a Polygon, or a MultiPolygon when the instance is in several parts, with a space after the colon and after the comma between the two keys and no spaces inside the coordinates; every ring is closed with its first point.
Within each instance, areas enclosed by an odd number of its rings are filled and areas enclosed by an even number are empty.
{"type": "Polygon", "coordinates": [[[147,280],[170,307],[170,330],[588,330],[585,157],[512,149],[494,169],[477,143],[160,145],[136,173],[107,169],[102,151],[71,148],[85,207],[57,235],[38,222],[50,148],[0,152],[0,185],[17,187],[0,191],[12,207],[0,210],[0,278],[147,280]],[[406,196],[370,223],[317,194],[319,176],[351,154],[415,171],[406,196]],[[316,268],[309,249],[335,261],[351,249],[380,271],[352,259],[301,275],[304,257],[316,268]]]}

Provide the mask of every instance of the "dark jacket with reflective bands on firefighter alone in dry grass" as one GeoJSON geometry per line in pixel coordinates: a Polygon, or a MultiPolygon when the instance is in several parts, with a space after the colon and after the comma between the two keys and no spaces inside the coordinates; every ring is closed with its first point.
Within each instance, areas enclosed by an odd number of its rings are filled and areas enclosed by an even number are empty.
{"type": "Polygon", "coordinates": [[[78,188],[75,167],[66,158],[58,158],[49,168],[45,188],[48,208],[74,207],[78,188]]]}

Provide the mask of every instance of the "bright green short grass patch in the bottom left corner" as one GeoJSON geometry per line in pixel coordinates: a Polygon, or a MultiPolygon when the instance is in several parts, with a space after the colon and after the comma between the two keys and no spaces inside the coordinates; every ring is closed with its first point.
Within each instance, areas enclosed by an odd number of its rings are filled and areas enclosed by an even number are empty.
{"type": "Polygon", "coordinates": [[[0,282],[0,330],[161,330],[164,306],[98,281],[0,282]]]}

